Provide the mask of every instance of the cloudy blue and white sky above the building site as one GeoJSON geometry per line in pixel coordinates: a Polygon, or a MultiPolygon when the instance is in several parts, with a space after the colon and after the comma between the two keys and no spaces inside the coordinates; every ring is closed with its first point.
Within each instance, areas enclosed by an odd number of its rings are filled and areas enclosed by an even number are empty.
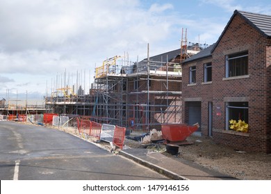
{"type": "MultiPolygon", "coordinates": [[[[82,85],[115,55],[136,62],[188,42],[211,45],[234,10],[271,15],[269,0],[1,0],[0,100],[42,100],[82,85]]],[[[35,103],[35,102],[34,102],[35,103]]]]}

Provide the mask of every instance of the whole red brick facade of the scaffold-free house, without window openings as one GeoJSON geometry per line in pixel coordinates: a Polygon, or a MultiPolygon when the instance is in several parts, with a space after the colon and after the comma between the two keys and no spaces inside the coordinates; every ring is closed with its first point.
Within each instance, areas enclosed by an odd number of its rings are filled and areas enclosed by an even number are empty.
{"type": "MultiPolygon", "coordinates": [[[[247,24],[240,16],[233,17],[220,42],[213,51],[213,82],[200,85],[202,80],[202,61],[197,62],[197,85],[187,86],[189,65],[183,65],[183,99],[202,98],[202,133],[208,126],[208,101],[213,101],[213,139],[241,150],[270,152],[270,94],[271,94],[271,48],[270,39],[247,24]],[[224,79],[225,55],[248,51],[249,78],[224,79]],[[209,92],[211,91],[211,92],[209,92]],[[210,96],[211,94],[211,96],[210,96]],[[212,99],[213,98],[213,99],[212,99]],[[229,98],[244,98],[249,104],[249,132],[225,130],[225,103],[229,98]],[[221,116],[215,114],[221,107],[221,116]],[[207,111],[207,112],[206,112],[207,111]]],[[[183,114],[185,112],[183,111],[183,114]]],[[[184,116],[183,121],[186,121],[184,116]]]]}

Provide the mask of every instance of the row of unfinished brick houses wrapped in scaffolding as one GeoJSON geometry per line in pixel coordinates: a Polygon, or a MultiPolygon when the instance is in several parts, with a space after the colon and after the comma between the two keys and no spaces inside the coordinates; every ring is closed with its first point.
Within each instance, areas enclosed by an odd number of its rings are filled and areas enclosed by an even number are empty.
{"type": "Polygon", "coordinates": [[[181,123],[181,60],[197,52],[195,44],[134,63],[121,56],[109,58],[95,69],[89,95],[65,87],[60,89],[63,95],[47,98],[47,109],[133,129],[181,123]]]}

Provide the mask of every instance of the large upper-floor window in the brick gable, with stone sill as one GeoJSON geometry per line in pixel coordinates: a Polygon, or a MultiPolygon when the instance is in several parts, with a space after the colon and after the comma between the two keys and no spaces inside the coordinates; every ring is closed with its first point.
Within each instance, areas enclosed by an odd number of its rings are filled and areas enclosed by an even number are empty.
{"type": "Polygon", "coordinates": [[[226,56],[226,78],[248,74],[248,52],[226,56]]]}

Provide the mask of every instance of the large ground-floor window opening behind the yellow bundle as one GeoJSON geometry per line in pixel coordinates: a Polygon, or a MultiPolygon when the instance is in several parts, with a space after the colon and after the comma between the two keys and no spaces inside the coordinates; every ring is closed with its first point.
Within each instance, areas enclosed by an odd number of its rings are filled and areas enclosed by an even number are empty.
{"type": "Polygon", "coordinates": [[[248,123],[248,103],[231,102],[226,103],[226,129],[229,130],[229,121],[245,121],[248,123]]]}

